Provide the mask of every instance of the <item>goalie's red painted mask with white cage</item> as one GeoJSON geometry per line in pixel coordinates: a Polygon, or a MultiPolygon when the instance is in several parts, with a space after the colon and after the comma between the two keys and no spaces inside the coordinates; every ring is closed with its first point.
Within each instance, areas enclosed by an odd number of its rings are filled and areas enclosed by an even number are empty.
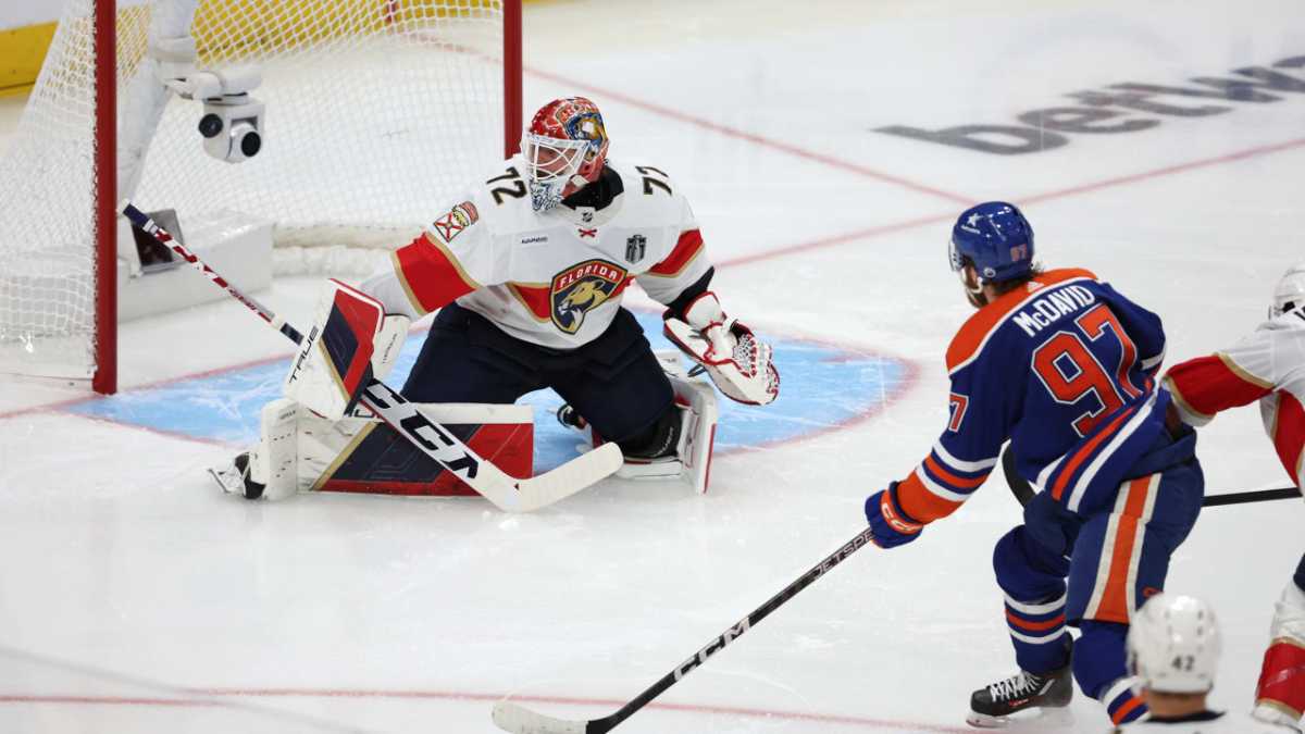
{"type": "Polygon", "coordinates": [[[583,97],[555,99],[535,112],[521,141],[535,212],[598,180],[608,142],[603,115],[583,97]]]}

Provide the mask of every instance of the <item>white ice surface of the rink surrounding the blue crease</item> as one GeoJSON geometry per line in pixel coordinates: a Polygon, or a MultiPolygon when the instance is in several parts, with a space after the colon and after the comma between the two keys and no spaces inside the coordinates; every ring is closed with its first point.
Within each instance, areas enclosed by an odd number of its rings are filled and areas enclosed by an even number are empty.
{"type": "MultiPolygon", "coordinates": [[[[0,731],[493,731],[508,695],[606,716],[856,533],[864,496],[928,451],[968,313],[944,246],[966,202],[1026,204],[1045,263],[1164,317],[1171,363],[1253,328],[1305,257],[1305,94],[1024,157],[872,132],[1013,124],[1078,90],[1305,54],[1295,1],[553,1],[527,5],[526,34],[527,107],[587,94],[613,155],[675,176],[732,313],[910,360],[915,383],[869,421],[722,458],[705,496],[609,485],[509,517],[475,499],[234,500],[202,471],[231,447],[0,381],[0,731]]],[[[312,285],[264,299],[303,320],[312,285]]],[[[235,303],[120,342],[124,388],[290,353],[235,303]]],[[[1199,451],[1211,492],[1287,483],[1253,409],[1199,451]]],[[[1302,517],[1212,508],[1174,558],[1168,588],[1223,620],[1216,705],[1250,705],[1302,517]]],[[[1013,671],[989,556],[1015,522],[992,482],[619,731],[967,731],[970,691],[1013,671]]],[[[1105,727],[1094,701],[1070,713],[1034,730],[1105,727]]]]}

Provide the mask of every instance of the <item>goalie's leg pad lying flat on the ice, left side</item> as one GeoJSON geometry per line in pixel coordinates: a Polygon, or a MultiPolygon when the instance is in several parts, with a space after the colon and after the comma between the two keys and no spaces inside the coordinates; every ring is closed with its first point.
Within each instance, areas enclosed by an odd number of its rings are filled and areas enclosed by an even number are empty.
{"type": "MultiPolygon", "coordinates": [[[[529,405],[419,407],[509,475],[532,474],[535,431],[529,405]]],[[[209,471],[223,491],[247,499],[312,491],[478,496],[378,418],[351,413],[328,421],[287,398],[264,406],[261,439],[253,451],[209,471]]]]}

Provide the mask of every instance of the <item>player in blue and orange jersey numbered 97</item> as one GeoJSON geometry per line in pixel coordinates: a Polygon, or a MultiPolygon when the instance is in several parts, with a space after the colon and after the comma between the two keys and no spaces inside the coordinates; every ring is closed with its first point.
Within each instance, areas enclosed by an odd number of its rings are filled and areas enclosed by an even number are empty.
{"type": "Polygon", "coordinates": [[[950,256],[977,308],[947,347],[950,419],[910,475],[867,499],[874,539],[907,543],[954,512],[1009,439],[1040,488],[993,551],[1021,670],[974,692],[970,722],[1064,707],[1071,675],[1114,724],[1137,720],[1129,619],[1164,588],[1203,494],[1195,434],[1155,381],[1160,319],[1088,270],[1035,266],[1032,227],[1006,202],[962,213],[950,256]]]}

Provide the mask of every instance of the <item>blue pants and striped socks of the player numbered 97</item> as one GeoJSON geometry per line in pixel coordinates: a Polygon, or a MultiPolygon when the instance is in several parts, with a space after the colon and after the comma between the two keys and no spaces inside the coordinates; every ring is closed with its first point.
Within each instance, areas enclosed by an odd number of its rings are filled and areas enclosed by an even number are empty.
{"type": "MultiPolygon", "coordinates": [[[[1125,665],[1129,619],[1164,589],[1169,558],[1201,512],[1205,481],[1194,436],[1180,440],[1176,464],[1128,479],[1112,507],[1069,512],[1048,492],[1024,508],[1024,524],[997,542],[993,568],[1005,593],[1006,623],[1022,670],[1047,673],[1070,662],[1088,696],[1116,724],[1146,712],[1125,665]],[[1070,641],[1066,626],[1082,635],[1070,641]]],[[[1158,443],[1172,448],[1167,435],[1158,443]]],[[[1174,452],[1165,452],[1169,460],[1174,452]]],[[[1144,466],[1147,457],[1139,460],[1144,466]]]]}

